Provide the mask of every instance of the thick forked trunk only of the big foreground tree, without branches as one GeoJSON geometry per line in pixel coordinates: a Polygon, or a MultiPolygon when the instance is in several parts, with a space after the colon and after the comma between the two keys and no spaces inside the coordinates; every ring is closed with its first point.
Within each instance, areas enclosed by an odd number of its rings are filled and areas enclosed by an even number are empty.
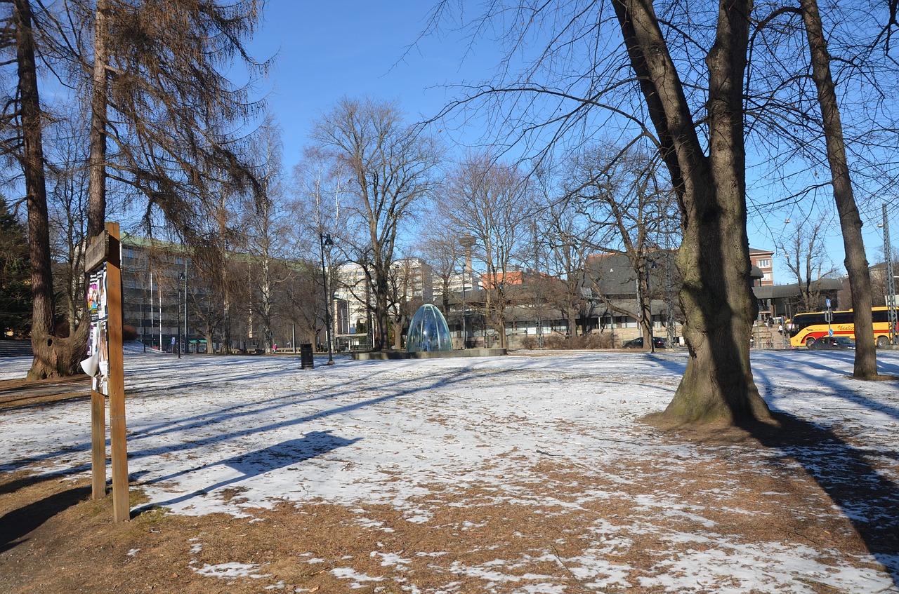
{"type": "Polygon", "coordinates": [[[717,38],[706,58],[708,157],[652,5],[613,4],[683,217],[677,266],[690,357],[664,415],[680,422],[770,420],[749,361],[756,307],[746,235],[742,83],[752,2],[719,4],[717,38]]]}

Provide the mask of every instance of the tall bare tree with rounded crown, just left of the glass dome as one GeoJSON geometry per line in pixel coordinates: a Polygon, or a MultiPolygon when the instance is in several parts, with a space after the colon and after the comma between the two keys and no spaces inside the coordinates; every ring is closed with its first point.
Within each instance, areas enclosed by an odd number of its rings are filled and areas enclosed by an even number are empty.
{"type": "Polygon", "coordinates": [[[430,193],[440,150],[432,138],[406,126],[396,104],[387,102],[340,100],[313,130],[316,143],[352,180],[343,239],[352,246],[349,258],[370,278],[373,347],[382,349],[390,333],[390,269],[398,233],[416,201],[430,193]]]}

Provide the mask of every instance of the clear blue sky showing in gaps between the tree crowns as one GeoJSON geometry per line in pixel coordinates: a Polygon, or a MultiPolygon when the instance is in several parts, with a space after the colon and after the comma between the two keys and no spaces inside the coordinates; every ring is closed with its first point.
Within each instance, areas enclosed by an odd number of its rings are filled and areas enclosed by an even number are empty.
{"type": "MultiPolygon", "coordinates": [[[[458,39],[427,37],[407,52],[426,26],[430,0],[392,2],[307,2],[270,0],[263,28],[251,44],[257,58],[277,54],[266,82],[269,109],[283,129],[287,168],[298,162],[307,144],[310,124],[343,96],[369,95],[399,100],[410,121],[432,117],[451,97],[441,85],[489,78],[497,55],[489,43],[479,44],[465,60],[465,46],[458,39]]],[[[474,8],[473,8],[474,10],[474,8]]],[[[470,138],[469,140],[472,140],[470,138]]],[[[454,139],[448,137],[450,143],[454,139]]],[[[823,201],[832,210],[832,202],[823,201]]],[[[797,214],[779,213],[752,217],[750,245],[776,249],[773,233],[784,219],[797,214]]],[[[863,213],[868,260],[883,259],[883,235],[877,229],[880,207],[863,213]]],[[[892,221],[892,219],[891,219],[892,221]]],[[[899,220],[891,223],[893,243],[899,245],[899,220]]],[[[827,251],[842,270],[842,240],[834,226],[827,251]]],[[[775,282],[789,283],[780,254],[774,257],[775,282]]]]}

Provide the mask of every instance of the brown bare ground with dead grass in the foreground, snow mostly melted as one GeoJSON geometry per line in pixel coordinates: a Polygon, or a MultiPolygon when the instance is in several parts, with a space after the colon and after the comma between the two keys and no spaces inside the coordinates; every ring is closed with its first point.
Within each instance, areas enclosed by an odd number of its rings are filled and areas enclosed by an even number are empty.
{"type": "MultiPolygon", "coordinates": [[[[3,406],[53,406],[58,398],[79,396],[75,382],[57,389],[55,396],[24,397],[4,388],[3,406]],[[18,398],[17,400],[15,398],[18,398]]],[[[52,391],[52,390],[51,390],[52,391]]],[[[700,444],[722,442],[745,448],[770,447],[763,441],[826,439],[807,428],[790,426],[769,435],[746,432],[681,431],[672,441],[700,444]],[[801,433],[800,433],[801,430],[801,433]],[[713,437],[714,436],[714,437],[713,437]]],[[[530,464],[530,462],[529,462],[530,464]]],[[[620,460],[624,467],[632,464],[620,460]]],[[[660,558],[676,558],[682,550],[701,548],[701,542],[673,545],[657,533],[629,531],[626,538],[597,536],[590,529],[599,519],[638,522],[639,497],[647,491],[677,494],[686,505],[704,509],[717,530],[738,543],[799,544],[840,551],[842,563],[866,555],[872,542],[879,552],[899,554],[899,537],[892,527],[859,527],[834,509],[826,492],[800,468],[784,465],[775,472],[752,472],[727,456],[701,467],[679,472],[642,468],[645,480],[622,488],[604,482],[601,473],[583,473],[570,461],[547,455],[534,470],[539,483],[522,489],[552,493],[555,509],[503,502],[490,488],[441,492],[433,486],[422,505],[434,511],[425,521],[410,521],[385,505],[351,508],[325,502],[284,503],[274,510],[255,510],[252,518],[225,515],[174,515],[160,509],[139,513],[129,522],[112,522],[111,497],[91,499],[89,480],[67,476],[0,474],[0,591],[8,594],[70,594],[74,592],[261,593],[274,592],[512,592],[524,582],[485,581],[460,567],[482,566],[491,560],[520,559],[521,579],[535,574],[564,586],[567,592],[656,592],[632,587],[599,589],[583,581],[565,559],[589,548],[601,548],[611,563],[620,562],[623,577],[639,583],[651,574],[660,558]],[[726,489],[717,486],[727,483],[726,489]],[[736,483],[734,485],[734,482],[736,483]],[[579,502],[584,492],[608,490],[604,500],[579,502]],[[772,496],[776,494],[776,496],[772,496]],[[565,505],[570,502],[571,505],[565,505]],[[740,508],[742,514],[724,512],[740,508]],[[717,512],[720,511],[720,512],[717,512]],[[760,521],[759,518],[765,518],[760,521]],[[886,528],[886,531],[884,530],[886,528]],[[624,542],[627,540],[627,542],[624,542]],[[546,551],[553,553],[547,555],[546,551]],[[227,563],[250,567],[227,573],[227,563]],[[355,572],[347,581],[335,572],[355,572]],[[489,583],[489,590],[485,590],[489,583]],[[353,584],[361,585],[352,589],[353,584]],[[410,587],[414,584],[415,589],[410,587]],[[449,584],[449,586],[448,586],[449,584]]],[[[605,469],[614,474],[615,465],[605,469]]],[[[628,467],[628,470],[633,470],[628,467]]],[[[239,498],[239,489],[228,497],[239,498]]],[[[142,502],[138,488],[131,507],[142,502]]],[[[666,528],[689,531],[688,515],[672,514],[666,528]]],[[[856,559],[858,567],[871,566],[856,559]]],[[[237,566],[235,566],[237,567],[237,566]]],[[[515,570],[512,570],[513,572],[515,570]]],[[[508,565],[504,572],[510,572],[508,565]]],[[[803,579],[815,592],[832,593],[831,586],[803,579]]],[[[543,590],[532,590],[543,591],[543,590]]],[[[694,590],[712,591],[712,590],[694,590]]]]}

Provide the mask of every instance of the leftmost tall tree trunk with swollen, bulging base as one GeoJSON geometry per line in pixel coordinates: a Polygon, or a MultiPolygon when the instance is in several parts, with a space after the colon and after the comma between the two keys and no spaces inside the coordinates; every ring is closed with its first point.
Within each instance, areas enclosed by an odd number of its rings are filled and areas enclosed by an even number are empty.
{"type": "MultiPolygon", "coordinates": [[[[34,360],[30,380],[71,375],[84,354],[86,330],[67,339],[54,335],[53,275],[50,269],[49,213],[44,175],[40,96],[35,62],[31,3],[15,0],[13,21],[18,61],[22,118],[22,172],[28,204],[28,242],[31,249],[31,348],[34,360]],[[78,349],[78,345],[82,348],[78,349]]],[[[84,324],[82,324],[84,327],[84,324]]]]}

